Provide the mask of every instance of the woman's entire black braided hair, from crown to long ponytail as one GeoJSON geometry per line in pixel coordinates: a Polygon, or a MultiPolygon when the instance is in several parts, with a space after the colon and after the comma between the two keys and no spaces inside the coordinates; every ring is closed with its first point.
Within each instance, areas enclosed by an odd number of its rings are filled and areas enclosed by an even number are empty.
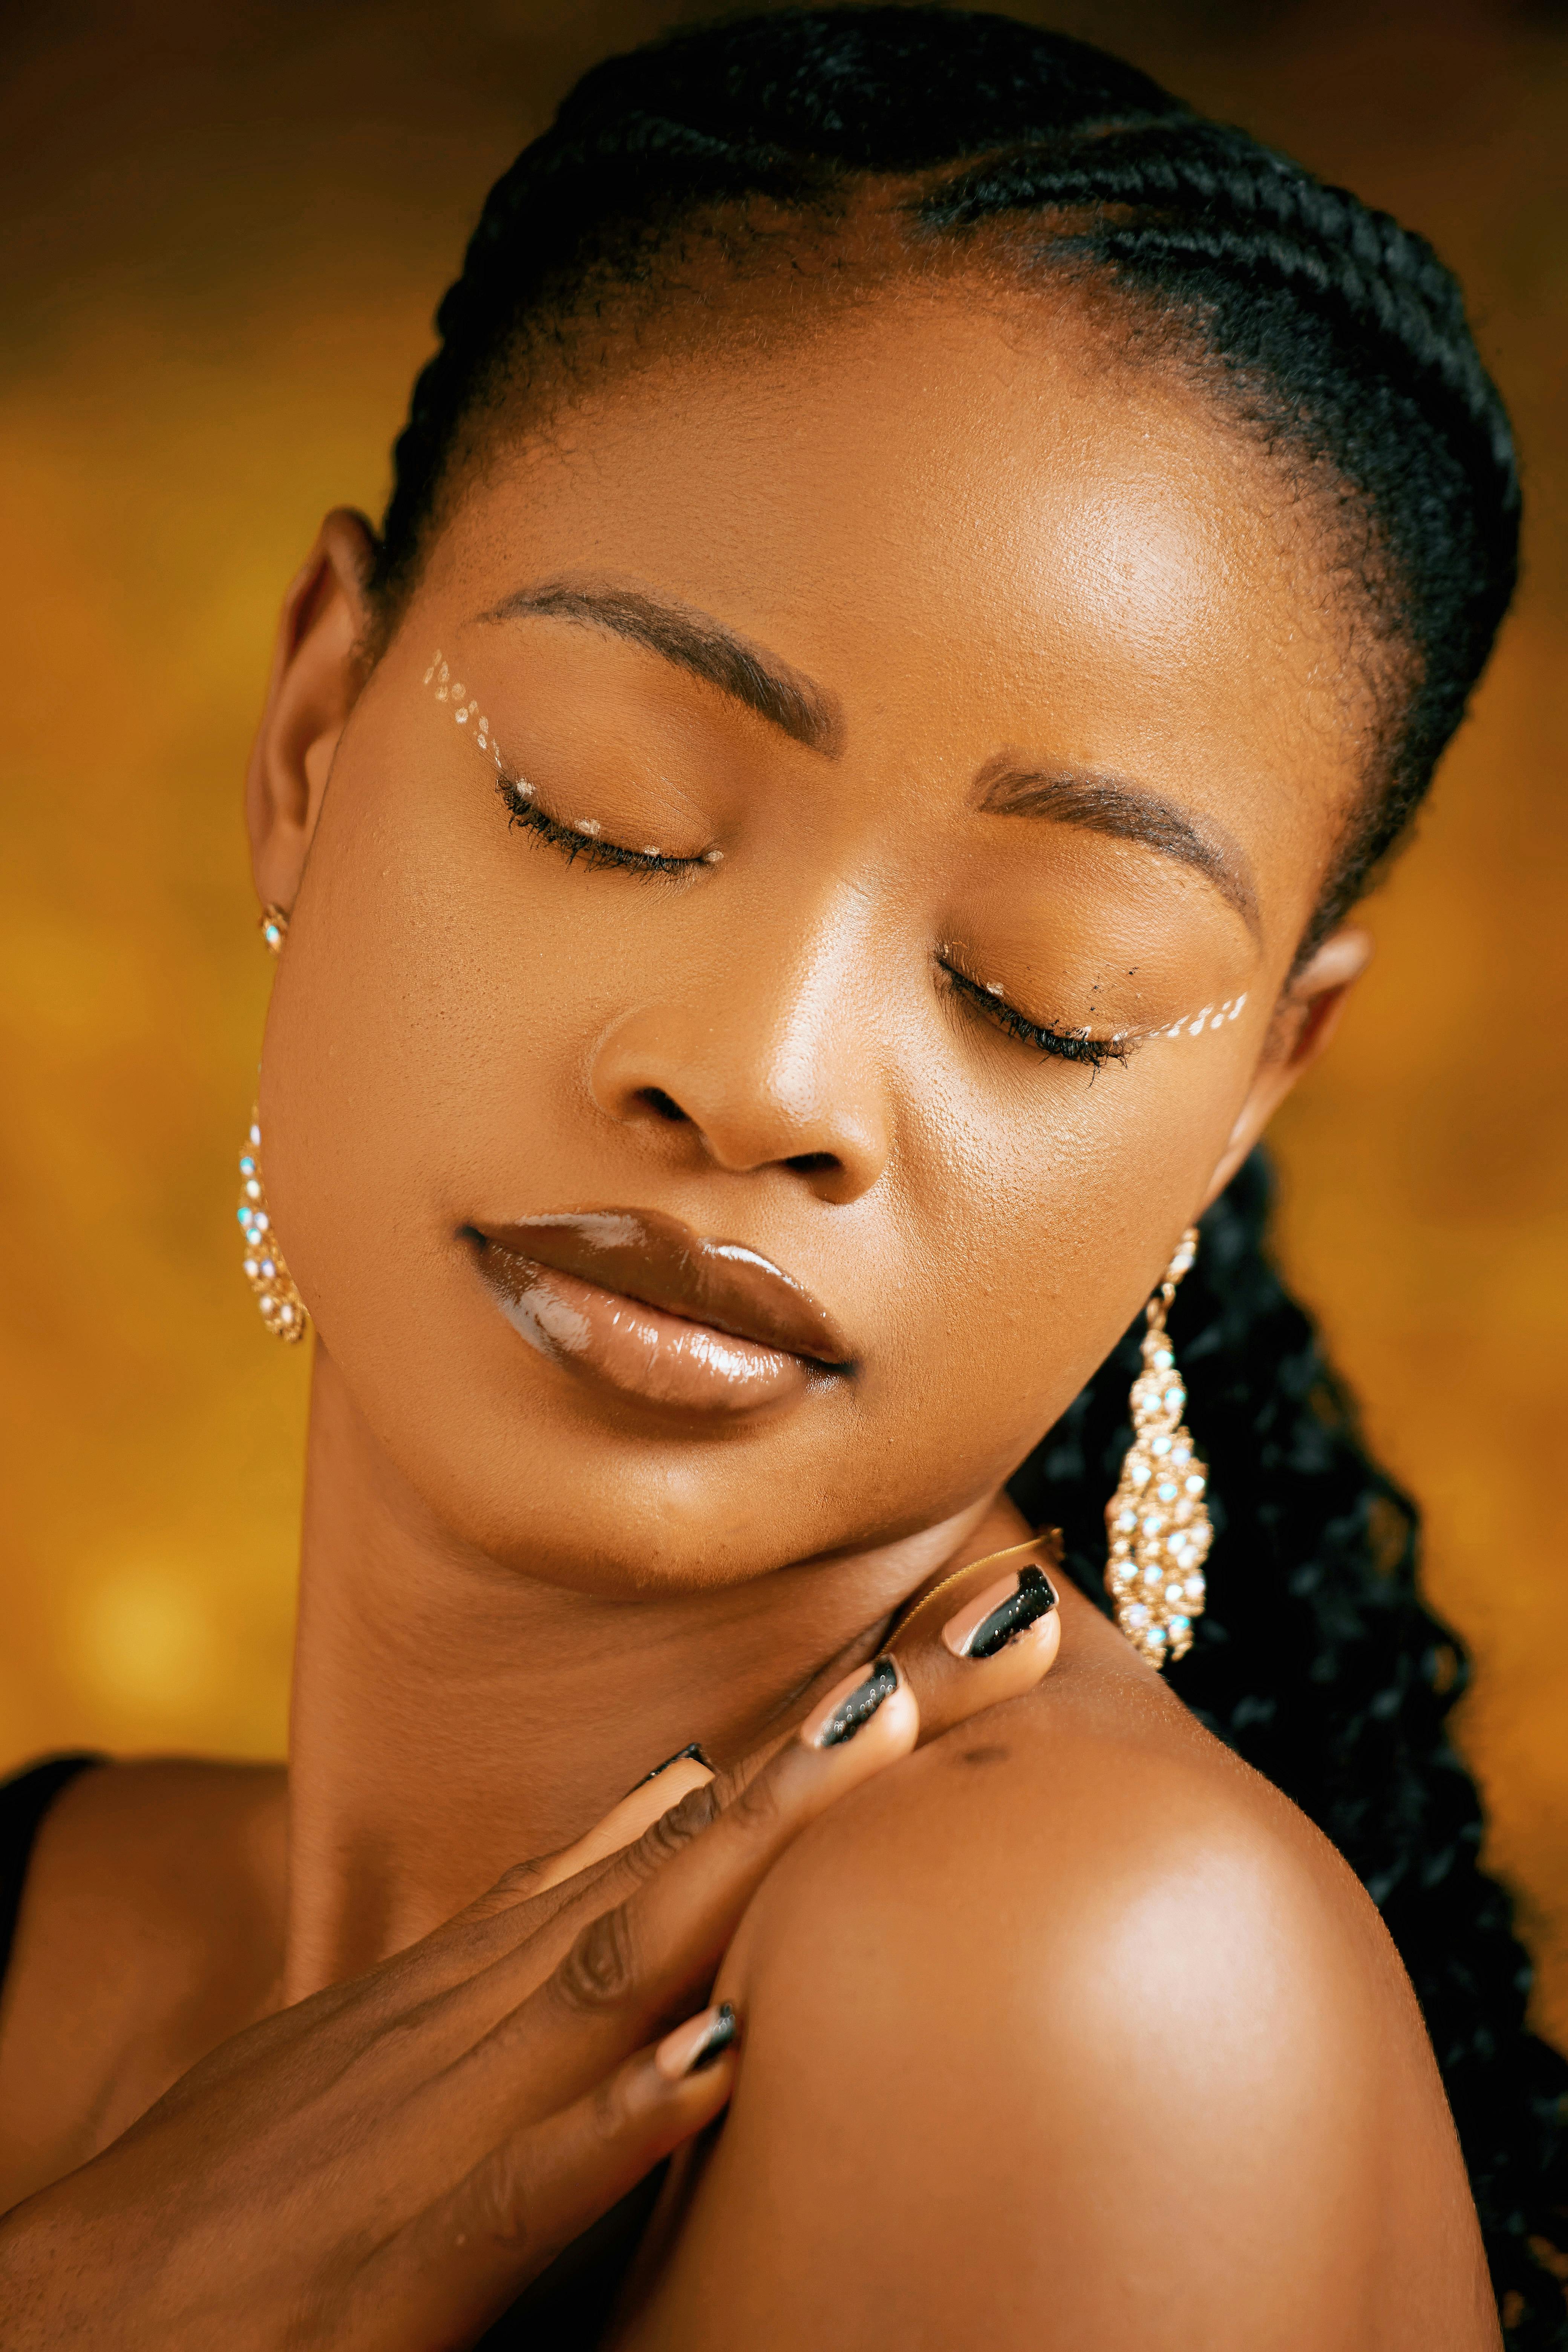
{"type": "MultiPolygon", "coordinates": [[[[912,254],[990,238],[1025,282],[1065,270],[1159,320],[1171,365],[1321,499],[1380,656],[1380,727],[1312,953],[1406,833],[1509,604],[1507,416],[1422,238],[1065,35],[957,9],[780,9],[583,75],[491,188],[437,310],[395,449],[383,626],[468,452],[574,318],[656,303],[682,240],[719,223],[733,249],[748,207],[832,235],[877,183],[912,254]]],[[[1481,1806],[1446,1731],[1465,1651],[1422,1606],[1415,1508],[1368,1458],[1269,1263],[1267,1209],[1253,1155],[1173,1310],[1220,1541],[1171,1682],[1378,1903],[1443,2070],[1509,2343],[1568,2347],[1547,2267],[1568,2209],[1568,2065],[1526,2027],[1530,1964],[1479,1865],[1481,1806]]],[[[1027,1515],[1063,1522],[1100,1606],[1135,1369],[1128,1334],[1011,1484],[1027,1515]]]]}

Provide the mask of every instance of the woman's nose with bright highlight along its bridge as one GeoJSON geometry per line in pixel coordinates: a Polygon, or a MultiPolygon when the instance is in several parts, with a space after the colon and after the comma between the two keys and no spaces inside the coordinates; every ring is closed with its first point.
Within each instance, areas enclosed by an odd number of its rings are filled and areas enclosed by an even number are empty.
{"type": "Polygon", "coordinates": [[[748,927],[743,953],[604,1028],[597,1108],[705,1167],[783,1169],[820,1200],[858,1200],[893,1141],[860,962],[846,934],[788,946],[748,927]]]}

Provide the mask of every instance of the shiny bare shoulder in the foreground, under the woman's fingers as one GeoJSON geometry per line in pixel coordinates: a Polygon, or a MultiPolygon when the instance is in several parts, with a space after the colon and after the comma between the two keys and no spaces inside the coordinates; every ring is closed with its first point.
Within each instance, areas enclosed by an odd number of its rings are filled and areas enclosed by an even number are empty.
{"type": "Polygon", "coordinates": [[[637,2347],[1497,2340],[1373,1905],[1143,1670],[858,1790],[724,1990],[741,2079],[637,2347]]]}

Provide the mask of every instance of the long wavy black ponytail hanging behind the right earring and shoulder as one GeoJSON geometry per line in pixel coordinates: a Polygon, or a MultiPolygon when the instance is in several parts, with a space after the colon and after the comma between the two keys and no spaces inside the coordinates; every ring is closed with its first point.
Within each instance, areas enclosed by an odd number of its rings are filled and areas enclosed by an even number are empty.
{"type": "MultiPolygon", "coordinates": [[[[1171,1334],[1211,1470],[1220,1541],[1208,1606],[1171,1689],[1281,1788],[1373,1896],[1422,2004],[1481,2213],[1509,2345],[1568,2343],[1563,2291],[1530,2237],[1563,2237],[1568,2065],[1526,2025],[1530,1966],[1507,1893],[1481,1870],[1481,1802],[1448,1715],[1462,1644],[1422,1604],[1420,1519],[1368,1461],[1356,1411],[1265,1237],[1272,1176],[1253,1152],[1204,1218],[1171,1334]]],[[[1105,1496],[1131,1444],[1143,1317],[1011,1482],[1056,1519],[1100,1609],[1105,1496]]]]}

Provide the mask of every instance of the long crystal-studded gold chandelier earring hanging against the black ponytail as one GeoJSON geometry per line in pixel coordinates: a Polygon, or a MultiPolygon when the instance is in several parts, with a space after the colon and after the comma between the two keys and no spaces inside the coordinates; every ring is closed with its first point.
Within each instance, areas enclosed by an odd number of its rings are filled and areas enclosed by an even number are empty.
{"type": "Polygon", "coordinates": [[[1192,1621],[1204,1613],[1208,1597],[1208,1470],[1192,1451],[1192,1435],[1182,1423],[1187,1385],[1166,1334],[1175,1287],[1192,1268],[1197,1247],[1199,1230],[1190,1225],[1145,1308],[1143,1371],[1133,1381],[1133,1442],[1105,1505],[1105,1590],[1117,1604],[1117,1625],[1150,1665],[1187,1656],[1192,1621]]]}

